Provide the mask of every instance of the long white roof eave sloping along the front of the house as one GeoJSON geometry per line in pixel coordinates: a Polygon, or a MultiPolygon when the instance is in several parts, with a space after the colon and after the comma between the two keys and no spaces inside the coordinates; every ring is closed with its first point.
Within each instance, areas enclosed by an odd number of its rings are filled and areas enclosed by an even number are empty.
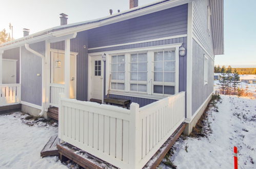
{"type": "Polygon", "coordinates": [[[72,33],[81,32],[81,31],[121,22],[123,20],[165,10],[165,9],[183,5],[192,1],[193,0],[165,0],[165,1],[162,0],[162,1],[157,1],[155,3],[151,3],[145,6],[132,8],[132,9],[129,9],[120,13],[116,13],[107,17],[103,17],[100,19],[94,19],[94,20],[89,20],[87,22],[80,22],[80,23],[63,25],[63,26],[57,26],[54,28],[37,32],[29,36],[22,37],[13,41],[9,41],[8,43],[2,44],[0,45],[0,51],[23,46],[25,43],[32,44],[38,41],[49,40],[56,37],[66,36],[72,33]]]}

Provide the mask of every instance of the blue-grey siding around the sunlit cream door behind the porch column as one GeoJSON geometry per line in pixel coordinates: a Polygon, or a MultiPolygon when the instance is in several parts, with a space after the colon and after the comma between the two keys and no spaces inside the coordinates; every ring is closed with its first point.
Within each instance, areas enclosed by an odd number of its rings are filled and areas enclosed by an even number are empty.
{"type": "MultiPolygon", "coordinates": [[[[70,50],[77,52],[76,60],[76,99],[87,100],[87,84],[88,84],[88,55],[87,55],[87,31],[78,32],[76,38],[70,41],[70,50]],[[86,49],[84,48],[86,46],[86,49]]],[[[52,49],[65,50],[65,41],[51,44],[52,49]]]]}

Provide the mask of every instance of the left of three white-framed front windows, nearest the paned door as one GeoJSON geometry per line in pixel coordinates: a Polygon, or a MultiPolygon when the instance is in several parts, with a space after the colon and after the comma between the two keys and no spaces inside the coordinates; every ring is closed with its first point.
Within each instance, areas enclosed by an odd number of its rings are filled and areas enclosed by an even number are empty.
{"type": "Polygon", "coordinates": [[[111,89],[125,90],[125,55],[111,56],[111,89]]]}

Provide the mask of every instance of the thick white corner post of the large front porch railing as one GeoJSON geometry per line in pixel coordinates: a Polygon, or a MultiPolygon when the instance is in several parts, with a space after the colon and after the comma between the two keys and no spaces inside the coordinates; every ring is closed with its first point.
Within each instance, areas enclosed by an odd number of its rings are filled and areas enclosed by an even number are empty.
{"type": "Polygon", "coordinates": [[[139,116],[139,108],[140,105],[137,103],[131,103],[130,105],[130,115],[131,115],[131,120],[130,120],[130,136],[129,136],[129,142],[130,142],[130,147],[129,147],[129,163],[130,163],[130,168],[137,168],[137,164],[139,163],[140,160],[140,155],[141,155],[141,143],[140,143],[140,116],[139,116]]]}

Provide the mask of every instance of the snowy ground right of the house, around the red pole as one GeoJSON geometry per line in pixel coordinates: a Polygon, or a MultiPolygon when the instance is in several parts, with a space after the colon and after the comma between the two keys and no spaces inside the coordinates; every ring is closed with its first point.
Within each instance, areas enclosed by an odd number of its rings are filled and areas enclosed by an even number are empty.
{"type": "MultiPolygon", "coordinates": [[[[219,112],[207,112],[212,130],[207,138],[180,138],[174,144],[170,160],[177,168],[233,168],[233,146],[238,146],[239,168],[256,168],[256,100],[221,98],[219,112]]],[[[162,163],[159,168],[170,167],[162,163]]]]}

